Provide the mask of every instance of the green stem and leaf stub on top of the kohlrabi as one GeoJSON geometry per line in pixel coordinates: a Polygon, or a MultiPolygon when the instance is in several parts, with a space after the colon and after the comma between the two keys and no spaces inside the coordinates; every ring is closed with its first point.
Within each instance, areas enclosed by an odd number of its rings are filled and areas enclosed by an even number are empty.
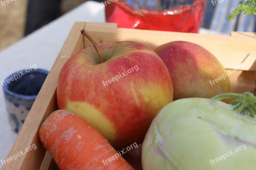
{"type": "Polygon", "coordinates": [[[243,115],[247,114],[251,117],[256,116],[256,97],[250,93],[245,92],[243,94],[238,93],[222,93],[214,96],[210,101],[215,104],[218,100],[237,98],[231,102],[233,110],[243,115]]]}

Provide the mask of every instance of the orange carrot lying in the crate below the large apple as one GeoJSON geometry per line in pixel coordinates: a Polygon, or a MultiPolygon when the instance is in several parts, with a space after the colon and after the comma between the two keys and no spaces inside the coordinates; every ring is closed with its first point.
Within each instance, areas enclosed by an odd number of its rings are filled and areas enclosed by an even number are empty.
{"type": "Polygon", "coordinates": [[[70,111],[53,112],[39,138],[61,170],[134,170],[99,131],[70,111]]]}

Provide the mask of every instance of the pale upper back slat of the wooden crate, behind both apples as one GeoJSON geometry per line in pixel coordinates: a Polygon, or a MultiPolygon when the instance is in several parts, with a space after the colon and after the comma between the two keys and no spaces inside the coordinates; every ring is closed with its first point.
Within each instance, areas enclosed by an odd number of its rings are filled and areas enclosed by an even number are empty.
{"type": "MultiPolygon", "coordinates": [[[[256,71],[256,34],[233,32],[231,36],[204,35],[197,33],[177,33],[165,31],[138,30],[127,28],[108,28],[90,25],[86,31],[97,42],[104,41],[137,41],[150,48],[170,41],[189,41],[201,45],[215,55],[227,69],[234,69],[244,61],[244,68],[239,70],[256,71]]],[[[85,47],[91,46],[85,40],[85,47]]]]}

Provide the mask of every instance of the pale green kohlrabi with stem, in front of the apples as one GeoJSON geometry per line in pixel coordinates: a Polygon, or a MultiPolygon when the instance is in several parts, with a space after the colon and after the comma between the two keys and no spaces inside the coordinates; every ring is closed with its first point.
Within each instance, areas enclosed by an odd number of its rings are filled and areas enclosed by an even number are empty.
{"type": "Polygon", "coordinates": [[[144,139],[143,170],[255,170],[255,113],[249,92],[169,103],[144,139]],[[237,97],[231,105],[218,101],[237,97]]]}

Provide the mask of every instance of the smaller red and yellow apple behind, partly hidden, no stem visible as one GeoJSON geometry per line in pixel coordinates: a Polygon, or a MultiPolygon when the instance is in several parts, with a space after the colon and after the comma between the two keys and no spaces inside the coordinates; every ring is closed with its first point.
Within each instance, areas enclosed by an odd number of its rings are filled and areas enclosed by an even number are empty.
{"type": "Polygon", "coordinates": [[[205,48],[191,42],[173,41],[156,47],[154,51],[170,71],[173,100],[212,98],[220,93],[231,92],[225,68],[205,48]]]}

